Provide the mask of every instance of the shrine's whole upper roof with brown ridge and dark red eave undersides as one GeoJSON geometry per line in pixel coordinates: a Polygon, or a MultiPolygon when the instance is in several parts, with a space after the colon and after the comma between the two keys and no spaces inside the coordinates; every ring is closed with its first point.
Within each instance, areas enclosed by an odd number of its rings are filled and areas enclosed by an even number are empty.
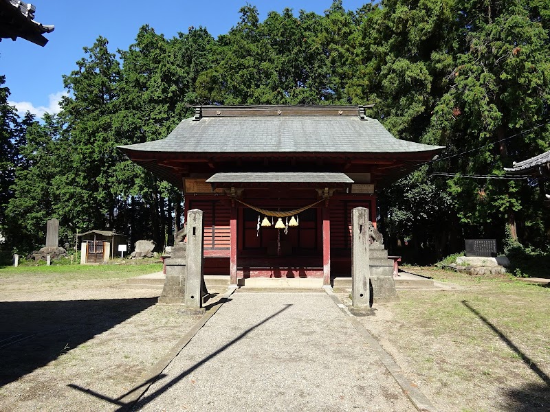
{"type": "MultiPolygon", "coordinates": [[[[372,165],[380,161],[387,165],[383,174],[377,176],[380,186],[415,170],[443,149],[396,139],[380,122],[366,117],[368,107],[199,106],[195,108],[195,117],[182,120],[165,139],[118,147],[159,179],[180,188],[182,174],[194,173],[193,162],[199,159],[212,160],[208,163],[212,170],[208,172],[214,173],[234,171],[227,164],[222,166],[225,170],[217,168],[223,159],[241,158],[234,162],[238,164],[260,158],[269,163],[271,157],[287,157],[300,163],[300,158],[311,162],[317,156],[346,158],[348,165],[354,159],[368,160],[372,165]]],[[[256,172],[274,171],[258,169],[257,165],[254,168],[256,172]]],[[[254,169],[245,166],[242,170],[254,169]]],[[[318,170],[325,171],[342,170],[340,166],[318,170]]]]}

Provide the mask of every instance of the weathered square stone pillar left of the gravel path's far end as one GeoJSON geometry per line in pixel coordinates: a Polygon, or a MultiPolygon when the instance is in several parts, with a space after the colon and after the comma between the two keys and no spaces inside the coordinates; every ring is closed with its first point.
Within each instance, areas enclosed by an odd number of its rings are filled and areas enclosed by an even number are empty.
{"type": "Polygon", "coordinates": [[[187,277],[185,306],[202,308],[204,283],[204,218],[203,211],[192,209],[187,213],[187,277]]]}

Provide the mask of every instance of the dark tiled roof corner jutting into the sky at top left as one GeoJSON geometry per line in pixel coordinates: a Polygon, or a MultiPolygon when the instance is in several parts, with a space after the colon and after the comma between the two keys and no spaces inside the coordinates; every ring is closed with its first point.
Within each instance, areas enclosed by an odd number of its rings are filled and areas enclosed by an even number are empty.
{"type": "Polygon", "coordinates": [[[54,31],[53,25],[42,25],[34,21],[36,8],[30,3],[18,0],[0,0],[0,41],[2,38],[16,40],[25,38],[32,43],[45,46],[44,33],[54,31]]]}

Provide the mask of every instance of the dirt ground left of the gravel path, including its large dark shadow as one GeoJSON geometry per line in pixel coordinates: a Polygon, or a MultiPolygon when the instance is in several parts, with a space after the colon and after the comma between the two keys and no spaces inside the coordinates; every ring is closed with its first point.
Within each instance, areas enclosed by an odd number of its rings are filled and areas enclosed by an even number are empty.
{"type": "Polygon", "coordinates": [[[0,278],[0,411],[116,409],[99,396],[124,395],[199,319],[123,282],[0,278]]]}

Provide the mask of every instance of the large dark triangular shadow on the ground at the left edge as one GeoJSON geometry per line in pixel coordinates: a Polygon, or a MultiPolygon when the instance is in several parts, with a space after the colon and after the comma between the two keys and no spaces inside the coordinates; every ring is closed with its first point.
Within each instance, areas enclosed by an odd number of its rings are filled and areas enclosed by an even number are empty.
{"type": "Polygon", "coordinates": [[[0,386],[54,361],[156,303],[156,297],[0,302],[0,386]],[[18,341],[17,336],[22,340],[18,341]]]}

